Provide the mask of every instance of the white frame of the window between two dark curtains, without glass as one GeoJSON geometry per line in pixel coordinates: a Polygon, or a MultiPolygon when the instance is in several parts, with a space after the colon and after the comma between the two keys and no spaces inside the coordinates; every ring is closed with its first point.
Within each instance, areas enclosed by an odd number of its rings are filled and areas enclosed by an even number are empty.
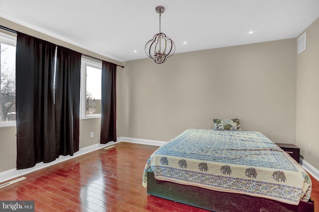
{"type": "MultiPolygon", "coordinates": [[[[86,115],[86,67],[102,70],[102,62],[94,60],[85,56],[81,58],[81,88],[80,88],[80,119],[101,118],[101,114],[98,115],[86,115]]],[[[102,76],[101,76],[102,80],[102,76]]]]}

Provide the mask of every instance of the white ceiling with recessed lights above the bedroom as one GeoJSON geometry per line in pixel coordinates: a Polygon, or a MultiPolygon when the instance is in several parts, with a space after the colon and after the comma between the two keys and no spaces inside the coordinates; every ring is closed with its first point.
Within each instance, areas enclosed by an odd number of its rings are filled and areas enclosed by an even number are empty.
{"type": "Polygon", "coordinates": [[[319,17],[319,0],[0,0],[0,17],[129,61],[147,57],[158,5],[175,54],[295,38],[319,17]]]}

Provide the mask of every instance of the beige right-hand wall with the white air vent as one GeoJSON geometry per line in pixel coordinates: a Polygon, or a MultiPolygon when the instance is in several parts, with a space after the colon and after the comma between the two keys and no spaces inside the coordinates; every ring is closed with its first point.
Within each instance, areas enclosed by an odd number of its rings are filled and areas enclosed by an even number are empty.
{"type": "Polygon", "coordinates": [[[304,159],[319,170],[319,19],[305,31],[307,49],[297,55],[296,143],[304,159]]]}

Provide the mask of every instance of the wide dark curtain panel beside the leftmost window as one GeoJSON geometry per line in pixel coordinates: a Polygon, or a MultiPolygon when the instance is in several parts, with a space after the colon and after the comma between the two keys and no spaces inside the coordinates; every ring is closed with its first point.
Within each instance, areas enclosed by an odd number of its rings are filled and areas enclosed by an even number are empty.
{"type": "Polygon", "coordinates": [[[53,104],[55,45],[17,32],[16,168],[56,158],[53,104]]]}

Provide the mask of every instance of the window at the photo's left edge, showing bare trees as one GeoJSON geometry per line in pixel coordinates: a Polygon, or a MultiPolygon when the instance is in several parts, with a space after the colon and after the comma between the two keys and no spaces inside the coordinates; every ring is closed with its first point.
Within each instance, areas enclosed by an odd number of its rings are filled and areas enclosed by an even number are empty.
{"type": "Polygon", "coordinates": [[[0,126],[15,125],[16,37],[0,32],[0,126]]]}

